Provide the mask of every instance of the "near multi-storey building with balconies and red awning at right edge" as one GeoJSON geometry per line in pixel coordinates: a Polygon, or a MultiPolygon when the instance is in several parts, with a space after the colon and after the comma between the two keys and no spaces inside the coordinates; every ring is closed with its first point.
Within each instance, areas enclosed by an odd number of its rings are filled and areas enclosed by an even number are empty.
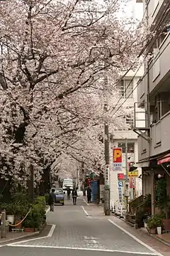
{"type": "Polygon", "coordinates": [[[170,194],[170,1],[137,0],[143,2],[152,39],[144,49],[152,58],[145,64],[145,73],[137,87],[137,107],[145,111],[144,127],[135,126],[138,137],[138,159],[142,167],[143,194],[152,195],[155,213],[157,177],[166,178],[170,194]]]}

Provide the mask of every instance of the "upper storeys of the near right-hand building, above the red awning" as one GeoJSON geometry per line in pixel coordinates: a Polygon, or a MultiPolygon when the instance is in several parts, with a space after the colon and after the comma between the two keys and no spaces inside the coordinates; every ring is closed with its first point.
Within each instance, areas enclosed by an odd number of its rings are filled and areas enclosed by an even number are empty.
{"type": "MultiPolygon", "coordinates": [[[[170,149],[168,129],[170,123],[170,33],[167,29],[170,26],[170,20],[168,20],[170,10],[166,10],[169,1],[143,0],[143,4],[144,16],[148,15],[151,30],[154,31],[157,27],[157,31],[160,29],[160,33],[155,38],[154,44],[151,42],[149,45],[149,49],[153,50],[153,57],[148,63],[149,72],[147,65],[145,65],[144,75],[137,87],[137,101],[140,102],[138,106],[143,105],[145,111],[147,110],[147,93],[149,90],[150,137],[152,138],[151,142],[148,143],[142,137],[138,137],[139,161],[147,159],[149,156],[162,154],[170,149]],[[164,13],[166,13],[166,19],[162,18],[164,13]],[[167,99],[163,95],[166,95],[167,99]],[[161,114],[158,114],[159,112],[161,114]]],[[[147,124],[143,127],[146,126],[148,127],[147,124]]]]}

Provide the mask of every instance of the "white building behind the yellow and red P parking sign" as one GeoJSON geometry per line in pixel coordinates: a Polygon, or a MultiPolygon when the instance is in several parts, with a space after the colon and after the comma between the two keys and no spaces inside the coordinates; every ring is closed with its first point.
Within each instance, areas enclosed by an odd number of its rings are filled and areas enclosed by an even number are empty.
{"type": "MultiPolygon", "coordinates": [[[[132,111],[134,110],[134,103],[137,102],[137,82],[142,78],[143,75],[143,67],[138,70],[135,74],[134,72],[130,71],[123,80],[120,82],[120,97],[127,98],[124,105],[128,105],[132,107],[132,111]],[[128,87],[128,90],[126,88],[128,87]],[[135,89],[135,90],[134,90],[135,89]],[[130,95],[132,92],[132,95],[130,95]],[[130,97],[128,97],[130,95],[130,97]]],[[[128,163],[130,162],[137,162],[138,161],[138,145],[137,145],[137,134],[132,131],[133,127],[133,119],[127,118],[127,123],[130,124],[131,129],[127,130],[116,130],[113,131],[111,136],[111,164],[113,163],[113,148],[121,147],[123,150],[123,169],[122,171],[113,171],[111,166],[110,171],[110,188],[111,188],[111,204],[115,201],[122,201],[123,200],[123,193],[124,187],[119,188],[118,183],[118,174],[125,174],[125,141],[128,140],[128,163]],[[120,198],[120,192],[122,193],[122,200],[120,198]]],[[[139,169],[139,176],[140,176],[139,169]]],[[[142,178],[135,179],[136,188],[135,191],[133,188],[130,188],[130,197],[129,199],[132,200],[136,196],[140,196],[142,194],[142,178]]],[[[125,181],[124,181],[125,185],[125,181]]],[[[123,186],[124,186],[123,185],[123,186]]]]}

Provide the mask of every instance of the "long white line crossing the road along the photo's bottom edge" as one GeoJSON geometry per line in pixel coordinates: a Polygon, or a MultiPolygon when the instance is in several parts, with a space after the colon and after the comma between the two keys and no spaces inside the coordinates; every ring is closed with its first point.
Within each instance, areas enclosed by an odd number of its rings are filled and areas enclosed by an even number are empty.
{"type": "Polygon", "coordinates": [[[122,252],[132,255],[156,255],[155,253],[150,252],[129,252],[122,250],[108,250],[108,249],[98,249],[98,248],[86,248],[86,247],[67,247],[67,246],[50,246],[50,245],[7,245],[10,247],[35,247],[35,248],[54,248],[54,249],[66,249],[66,250],[86,250],[86,251],[97,251],[97,252],[122,252]]]}

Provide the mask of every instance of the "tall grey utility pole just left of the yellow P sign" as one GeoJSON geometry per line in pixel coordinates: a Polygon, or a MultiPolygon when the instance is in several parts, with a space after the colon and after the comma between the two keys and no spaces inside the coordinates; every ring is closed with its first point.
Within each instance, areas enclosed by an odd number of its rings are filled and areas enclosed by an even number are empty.
{"type": "MultiPolygon", "coordinates": [[[[108,105],[104,105],[104,110],[108,111],[108,105]]],[[[110,184],[109,184],[109,164],[110,164],[110,136],[107,121],[104,124],[104,143],[105,143],[105,193],[104,193],[104,213],[105,215],[111,215],[110,208],[110,184]]]]}

